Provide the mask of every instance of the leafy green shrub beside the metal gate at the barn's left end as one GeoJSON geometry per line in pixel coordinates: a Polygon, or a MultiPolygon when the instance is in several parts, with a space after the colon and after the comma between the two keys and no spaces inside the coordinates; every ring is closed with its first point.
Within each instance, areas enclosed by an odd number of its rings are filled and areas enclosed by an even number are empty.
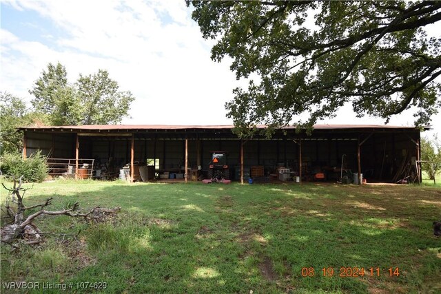
{"type": "Polygon", "coordinates": [[[42,182],[48,177],[46,157],[38,151],[23,160],[21,154],[7,153],[1,156],[0,170],[4,176],[19,178],[25,182],[42,182]]]}

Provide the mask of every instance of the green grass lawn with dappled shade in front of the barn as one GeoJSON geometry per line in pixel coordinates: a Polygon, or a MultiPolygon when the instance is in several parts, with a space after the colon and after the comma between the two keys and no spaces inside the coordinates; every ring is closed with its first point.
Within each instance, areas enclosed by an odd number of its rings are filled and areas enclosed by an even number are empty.
{"type": "Polygon", "coordinates": [[[441,293],[441,238],[431,229],[440,187],[37,184],[28,205],[52,196],[52,209],[122,210],[90,226],[37,222],[45,232],[81,230],[78,240],[47,235],[18,253],[2,244],[1,292],[4,282],[40,282],[45,293],[43,283],[83,293],[94,290],[77,283],[105,282],[105,293],[441,293]]]}

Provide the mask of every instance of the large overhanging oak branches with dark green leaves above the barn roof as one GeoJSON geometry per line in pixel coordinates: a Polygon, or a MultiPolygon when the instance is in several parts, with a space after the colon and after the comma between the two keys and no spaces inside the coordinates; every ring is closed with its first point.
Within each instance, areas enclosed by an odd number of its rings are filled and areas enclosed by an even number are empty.
{"type": "Polygon", "coordinates": [[[231,57],[236,77],[250,79],[226,104],[239,130],[311,127],[345,103],[386,123],[415,106],[424,125],[441,106],[441,41],[424,31],[440,21],[440,1],[191,3],[203,37],[216,40],[212,59],[231,57]]]}

